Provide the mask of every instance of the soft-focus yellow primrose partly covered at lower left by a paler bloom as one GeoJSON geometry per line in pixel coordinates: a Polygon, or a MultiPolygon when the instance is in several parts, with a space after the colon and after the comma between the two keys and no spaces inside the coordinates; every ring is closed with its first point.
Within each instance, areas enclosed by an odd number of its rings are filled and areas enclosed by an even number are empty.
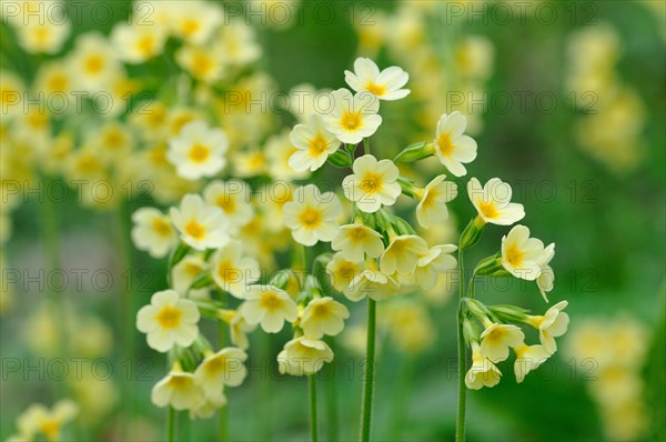
{"type": "Polygon", "coordinates": [[[203,189],[203,199],[208,205],[222,209],[229,218],[231,233],[235,233],[254,217],[250,192],[248,183],[241,180],[211,181],[203,189]]]}

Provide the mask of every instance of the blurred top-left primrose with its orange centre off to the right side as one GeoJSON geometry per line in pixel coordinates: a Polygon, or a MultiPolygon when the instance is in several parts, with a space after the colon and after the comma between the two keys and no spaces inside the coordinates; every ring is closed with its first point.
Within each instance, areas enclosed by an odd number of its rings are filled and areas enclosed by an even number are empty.
{"type": "Polygon", "coordinates": [[[111,32],[111,43],[120,59],[129,63],[142,63],[159,56],[167,41],[167,33],[158,26],[139,26],[119,22],[111,32]]]}

